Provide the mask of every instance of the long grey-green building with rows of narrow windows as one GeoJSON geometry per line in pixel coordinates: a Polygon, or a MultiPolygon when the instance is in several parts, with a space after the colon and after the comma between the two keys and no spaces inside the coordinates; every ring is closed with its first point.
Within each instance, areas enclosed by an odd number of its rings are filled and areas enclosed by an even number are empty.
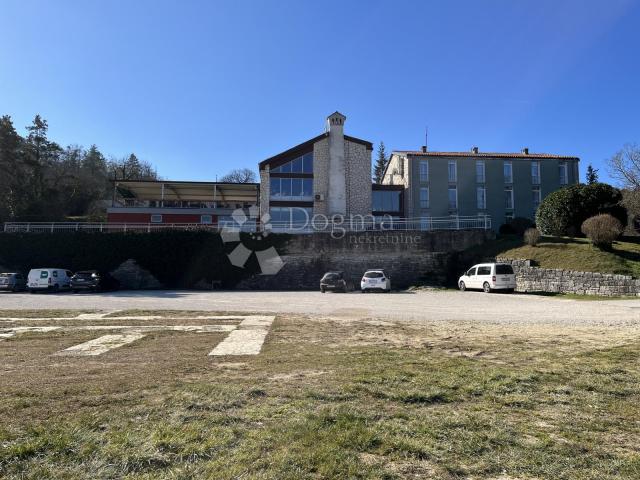
{"type": "Polygon", "coordinates": [[[404,189],[407,218],[488,216],[493,227],[535,218],[540,202],[578,183],[579,158],[530,153],[394,151],[384,185],[404,189]]]}

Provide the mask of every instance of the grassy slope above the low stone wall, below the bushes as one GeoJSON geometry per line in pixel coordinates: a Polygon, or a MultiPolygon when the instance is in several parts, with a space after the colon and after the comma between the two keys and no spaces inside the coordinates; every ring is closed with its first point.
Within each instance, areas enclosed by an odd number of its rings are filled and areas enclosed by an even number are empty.
{"type": "Polygon", "coordinates": [[[583,238],[543,237],[536,247],[521,238],[502,236],[482,246],[483,255],[535,260],[543,268],[631,275],[640,278],[640,243],[631,239],[613,244],[611,251],[593,247],[583,238]]]}

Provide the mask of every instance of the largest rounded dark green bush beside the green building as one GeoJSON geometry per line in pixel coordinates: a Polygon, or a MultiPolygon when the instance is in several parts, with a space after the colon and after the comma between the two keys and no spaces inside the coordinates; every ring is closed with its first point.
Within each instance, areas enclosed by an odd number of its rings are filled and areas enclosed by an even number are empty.
{"type": "Polygon", "coordinates": [[[627,223],[621,205],[622,192],[605,183],[572,185],[548,195],[536,212],[536,225],[546,235],[573,236],[582,223],[597,214],[610,214],[622,225],[627,223]]]}

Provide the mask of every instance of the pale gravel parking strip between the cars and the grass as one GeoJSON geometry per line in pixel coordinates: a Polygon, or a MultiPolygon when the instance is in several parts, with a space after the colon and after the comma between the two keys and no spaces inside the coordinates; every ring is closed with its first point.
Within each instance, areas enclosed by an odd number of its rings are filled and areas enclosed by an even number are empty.
{"type": "Polygon", "coordinates": [[[535,295],[423,291],[322,294],[264,291],[122,291],[103,294],[0,294],[0,309],[203,310],[294,313],[342,318],[480,323],[640,324],[640,300],[583,301],[535,295]]]}

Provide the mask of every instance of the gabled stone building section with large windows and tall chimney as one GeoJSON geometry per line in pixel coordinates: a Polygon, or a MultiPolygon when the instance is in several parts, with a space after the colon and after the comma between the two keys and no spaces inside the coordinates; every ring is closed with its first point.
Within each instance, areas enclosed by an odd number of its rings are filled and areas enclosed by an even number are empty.
{"type": "Polygon", "coordinates": [[[371,215],[371,142],[344,134],[346,117],[325,132],[259,164],[261,215],[302,224],[314,215],[371,215]]]}

